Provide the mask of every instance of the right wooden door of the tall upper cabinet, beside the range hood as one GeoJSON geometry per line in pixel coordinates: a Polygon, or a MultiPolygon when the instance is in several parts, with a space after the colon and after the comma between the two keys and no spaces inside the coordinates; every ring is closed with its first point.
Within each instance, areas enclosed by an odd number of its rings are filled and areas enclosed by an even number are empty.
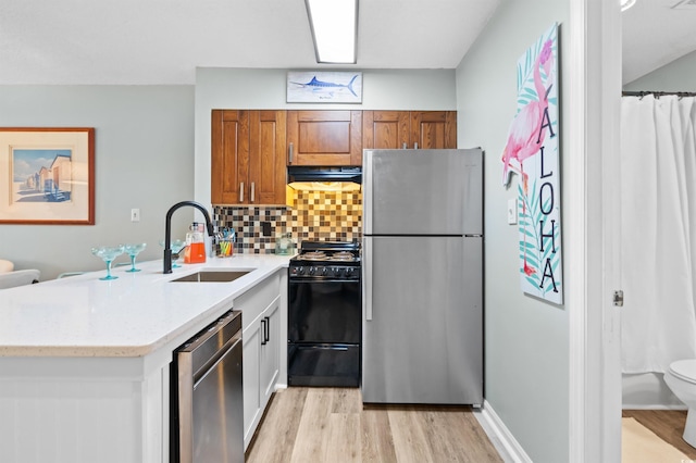
{"type": "Polygon", "coordinates": [[[250,204],[285,204],[285,111],[249,112],[250,204]]]}

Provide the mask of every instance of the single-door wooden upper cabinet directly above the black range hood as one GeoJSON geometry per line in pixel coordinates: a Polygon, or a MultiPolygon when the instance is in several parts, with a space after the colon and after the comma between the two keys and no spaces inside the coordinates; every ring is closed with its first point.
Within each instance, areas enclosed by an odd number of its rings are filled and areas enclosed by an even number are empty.
{"type": "Polygon", "coordinates": [[[362,111],[288,111],[288,165],[361,165],[362,111]]]}

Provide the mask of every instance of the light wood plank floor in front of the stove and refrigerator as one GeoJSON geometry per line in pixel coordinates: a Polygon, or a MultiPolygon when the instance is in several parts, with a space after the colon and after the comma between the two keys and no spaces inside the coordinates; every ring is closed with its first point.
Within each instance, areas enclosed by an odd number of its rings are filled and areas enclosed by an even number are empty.
{"type": "Polygon", "coordinates": [[[462,406],[362,405],[357,388],[277,391],[249,463],[502,462],[462,406]]]}

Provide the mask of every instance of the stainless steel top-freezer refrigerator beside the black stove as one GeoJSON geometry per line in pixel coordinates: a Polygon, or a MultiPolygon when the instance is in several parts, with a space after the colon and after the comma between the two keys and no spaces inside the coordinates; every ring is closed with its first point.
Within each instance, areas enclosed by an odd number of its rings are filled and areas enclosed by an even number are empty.
{"type": "Polygon", "coordinates": [[[483,403],[483,153],[363,152],[362,400],[483,403]]]}

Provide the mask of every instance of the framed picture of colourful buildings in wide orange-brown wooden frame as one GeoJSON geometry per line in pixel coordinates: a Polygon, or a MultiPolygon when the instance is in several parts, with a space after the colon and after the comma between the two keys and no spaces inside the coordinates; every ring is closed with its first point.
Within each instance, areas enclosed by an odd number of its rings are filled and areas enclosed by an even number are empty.
{"type": "Polygon", "coordinates": [[[0,127],[0,224],[95,224],[94,127],[0,127]]]}

